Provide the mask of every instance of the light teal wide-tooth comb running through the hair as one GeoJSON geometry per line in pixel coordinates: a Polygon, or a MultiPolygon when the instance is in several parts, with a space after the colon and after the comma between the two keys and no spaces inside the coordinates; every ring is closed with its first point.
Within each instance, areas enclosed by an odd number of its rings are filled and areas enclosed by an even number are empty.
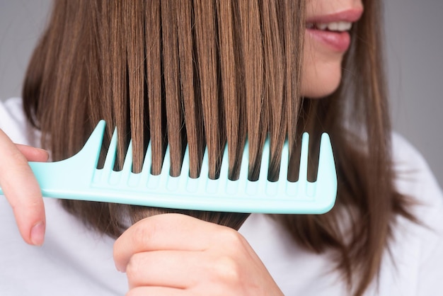
{"type": "MultiPolygon", "coordinates": [[[[121,171],[114,171],[117,133],[103,169],[97,169],[98,156],[105,132],[105,122],[98,123],[81,151],[62,161],[30,162],[42,195],[50,198],[91,200],[182,210],[217,212],[263,212],[275,214],[321,214],[328,212],[337,194],[337,175],[332,147],[327,134],[321,137],[316,182],[307,181],[309,135],[301,142],[299,181],[287,181],[288,143],[284,143],[280,181],[267,181],[269,142],[265,142],[258,181],[248,181],[248,147],[241,162],[240,177],[229,180],[228,153],[224,152],[220,177],[209,179],[208,156],[205,153],[199,178],[188,176],[188,150],[180,176],[169,176],[169,158],[165,157],[159,175],[151,175],[151,147],[147,148],[142,172],[132,173],[132,148],[128,148],[121,171]]],[[[166,149],[166,155],[169,154],[166,149]]],[[[0,194],[2,194],[0,188],[0,194]]]]}

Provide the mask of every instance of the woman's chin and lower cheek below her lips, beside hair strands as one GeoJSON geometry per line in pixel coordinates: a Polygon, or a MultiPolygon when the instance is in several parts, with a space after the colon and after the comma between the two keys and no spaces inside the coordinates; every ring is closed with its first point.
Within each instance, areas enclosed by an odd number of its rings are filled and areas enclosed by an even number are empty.
{"type": "Polygon", "coordinates": [[[326,52],[315,42],[306,38],[303,73],[301,75],[301,95],[309,98],[322,98],[333,93],[341,80],[343,55],[326,52]]]}

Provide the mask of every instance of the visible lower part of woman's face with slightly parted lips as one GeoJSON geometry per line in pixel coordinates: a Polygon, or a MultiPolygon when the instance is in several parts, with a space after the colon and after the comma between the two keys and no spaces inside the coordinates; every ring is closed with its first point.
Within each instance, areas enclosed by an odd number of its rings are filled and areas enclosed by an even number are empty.
{"type": "Polygon", "coordinates": [[[362,13],[362,0],[306,0],[303,96],[321,98],[338,88],[348,31],[362,13]]]}

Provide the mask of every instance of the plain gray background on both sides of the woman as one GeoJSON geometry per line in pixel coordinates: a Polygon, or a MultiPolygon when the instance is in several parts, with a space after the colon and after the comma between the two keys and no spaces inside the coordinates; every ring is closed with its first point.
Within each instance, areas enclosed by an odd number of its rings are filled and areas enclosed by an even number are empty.
{"type": "MultiPolygon", "coordinates": [[[[50,0],[0,0],[0,99],[20,96],[50,0]]],[[[443,1],[388,0],[386,56],[393,127],[443,186],[443,1]]]]}

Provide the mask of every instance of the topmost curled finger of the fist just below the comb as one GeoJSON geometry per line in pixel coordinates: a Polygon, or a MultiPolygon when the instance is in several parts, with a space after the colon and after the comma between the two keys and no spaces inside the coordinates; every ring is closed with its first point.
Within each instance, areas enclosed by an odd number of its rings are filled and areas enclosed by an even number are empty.
{"type": "Polygon", "coordinates": [[[211,240],[205,234],[220,233],[222,229],[235,232],[186,215],[163,214],[148,217],[132,225],[115,241],[115,266],[119,271],[125,271],[130,257],[142,251],[203,251],[211,240]]]}

